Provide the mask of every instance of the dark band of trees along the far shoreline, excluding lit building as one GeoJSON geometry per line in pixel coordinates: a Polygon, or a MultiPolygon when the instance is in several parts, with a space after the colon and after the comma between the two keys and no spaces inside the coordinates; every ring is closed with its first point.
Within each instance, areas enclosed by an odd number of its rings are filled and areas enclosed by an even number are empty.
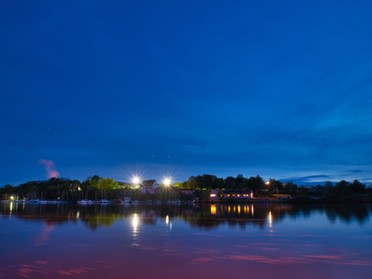
{"type": "Polygon", "coordinates": [[[184,182],[173,183],[171,186],[157,185],[156,188],[144,188],[103,178],[97,175],[84,181],[67,178],[51,178],[42,181],[29,181],[18,186],[4,185],[0,188],[0,199],[41,199],[41,200],[200,200],[208,201],[211,190],[251,191],[256,199],[287,199],[292,201],[372,201],[372,188],[366,187],[359,180],[351,182],[326,182],[322,185],[301,186],[293,182],[281,182],[276,179],[265,181],[261,176],[219,178],[215,175],[191,176],[184,182]]]}

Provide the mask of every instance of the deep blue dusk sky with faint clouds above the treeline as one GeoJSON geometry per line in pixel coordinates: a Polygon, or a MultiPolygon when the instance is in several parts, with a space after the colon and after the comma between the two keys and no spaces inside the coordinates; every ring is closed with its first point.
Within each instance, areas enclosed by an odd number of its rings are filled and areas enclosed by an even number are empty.
{"type": "Polygon", "coordinates": [[[0,185],[372,181],[372,2],[1,1],[0,185]]]}

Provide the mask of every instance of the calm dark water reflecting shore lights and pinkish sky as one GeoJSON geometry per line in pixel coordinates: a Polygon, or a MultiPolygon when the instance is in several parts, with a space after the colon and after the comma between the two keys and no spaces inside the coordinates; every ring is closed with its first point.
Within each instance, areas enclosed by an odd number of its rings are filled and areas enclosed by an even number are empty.
{"type": "Polygon", "coordinates": [[[0,278],[372,278],[371,205],[2,204],[0,278]]]}

